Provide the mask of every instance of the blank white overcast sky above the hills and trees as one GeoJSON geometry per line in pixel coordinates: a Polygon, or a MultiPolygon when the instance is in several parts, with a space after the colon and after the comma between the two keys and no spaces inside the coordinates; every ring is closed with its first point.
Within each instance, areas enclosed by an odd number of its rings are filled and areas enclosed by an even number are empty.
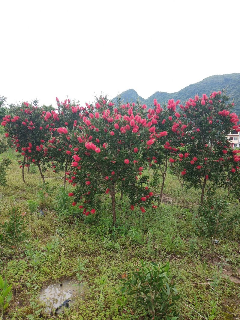
{"type": "Polygon", "coordinates": [[[240,72],[237,0],[0,1],[0,95],[148,98],[240,72]]]}

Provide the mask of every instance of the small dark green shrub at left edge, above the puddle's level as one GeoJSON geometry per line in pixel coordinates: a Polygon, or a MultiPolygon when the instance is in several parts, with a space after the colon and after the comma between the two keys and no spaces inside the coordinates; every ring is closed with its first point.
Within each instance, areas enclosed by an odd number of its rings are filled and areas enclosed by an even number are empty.
{"type": "Polygon", "coordinates": [[[18,208],[13,207],[9,211],[9,221],[5,221],[1,225],[0,230],[0,245],[3,252],[4,248],[8,248],[16,252],[17,246],[26,239],[26,226],[23,216],[18,208]]]}

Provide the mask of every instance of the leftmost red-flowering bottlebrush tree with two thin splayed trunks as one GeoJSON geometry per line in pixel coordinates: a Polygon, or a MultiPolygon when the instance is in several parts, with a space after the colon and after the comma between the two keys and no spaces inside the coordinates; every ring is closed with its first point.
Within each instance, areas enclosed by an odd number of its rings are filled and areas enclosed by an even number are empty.
{"type": "Polygon", "coordinates": [[[41,164],[47,161],[47,148],[44,143],[51,137],[53,124],[48,124],[51,117],[50,112],[45,112],[36,105],[23,102],[15,109],[15,115],[6,115],[3,117],[2,125],[5,128],[5,136],[11,137],[15,145],[16,152],[20,152],[23,156],[23,161],[20,165],[22,168],[22,178],[24,180],[24,165],[29,163],[38,166],[41,177],[44,181],[44,176],[41,169],[41,164]]]}

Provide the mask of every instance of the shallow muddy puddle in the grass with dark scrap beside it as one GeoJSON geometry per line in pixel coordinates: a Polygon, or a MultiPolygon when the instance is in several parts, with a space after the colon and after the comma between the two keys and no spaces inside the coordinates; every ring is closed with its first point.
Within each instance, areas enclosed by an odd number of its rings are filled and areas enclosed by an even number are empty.
{"type": "Polygon", "coordinates": [[[54,282],[40,291],[39,300],[44,302],[46,313],[60,314],[64,312],[64,308],[71,308],[77,298],[84,299],[82,284],[80,290],[81,294],[76,280],[65,280],[62,283],[54,282]]]}

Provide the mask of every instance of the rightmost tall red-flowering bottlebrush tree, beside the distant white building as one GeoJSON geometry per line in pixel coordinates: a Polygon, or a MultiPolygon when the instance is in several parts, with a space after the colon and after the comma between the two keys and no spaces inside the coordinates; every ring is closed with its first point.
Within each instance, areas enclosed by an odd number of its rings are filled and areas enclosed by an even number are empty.
{"type": "Polygon", "coordinates": [[[229,166],[229,142],[227,134],[232,129],[239,131],[238,117],[231,113],[233,103],[221,92],[212,92],[210,97],[195,96],[180,105],[182,129],[176,127],[176,136],[181,152],[169,159],[179,162],[184,181],[200,188],[201,204],[207,180],[214,186],[224,186],[229,166]]]}

